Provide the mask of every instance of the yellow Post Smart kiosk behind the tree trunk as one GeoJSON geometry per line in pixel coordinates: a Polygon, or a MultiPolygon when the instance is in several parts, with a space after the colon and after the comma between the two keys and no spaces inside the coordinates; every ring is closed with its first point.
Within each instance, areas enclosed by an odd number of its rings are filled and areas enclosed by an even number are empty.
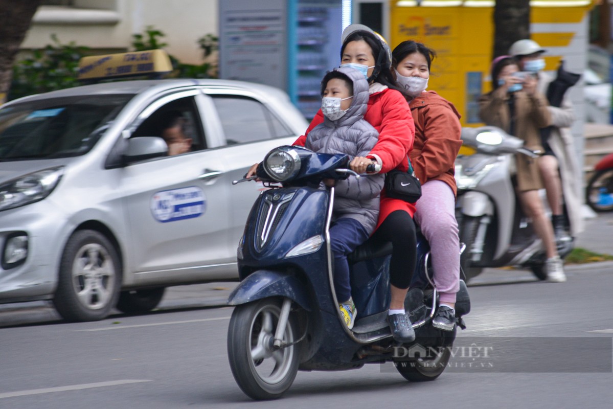
{"type": "MultiPolygon", "coordinates": [[[[436,50],[428,88],[452,101],[462,124],[479,126],[478,97],[490,91],[494,25],[490,0],[392,0],[390,45],[423,42],[436,50]]],[[[532,0],[531,39],[547,49],[547,71],[582,72],[587,59],[590,0],[532,0]]]]}

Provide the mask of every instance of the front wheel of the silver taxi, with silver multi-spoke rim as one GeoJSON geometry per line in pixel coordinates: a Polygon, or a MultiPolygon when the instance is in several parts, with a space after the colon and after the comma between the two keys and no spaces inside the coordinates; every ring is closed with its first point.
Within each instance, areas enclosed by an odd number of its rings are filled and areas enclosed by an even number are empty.
{"type": "Polygon", "coordinates": [[[67,321],[97,321],[115,307],[121,262],[112,243],[93,230],[75,232],[64,247],[53,304],[67,321]]]}

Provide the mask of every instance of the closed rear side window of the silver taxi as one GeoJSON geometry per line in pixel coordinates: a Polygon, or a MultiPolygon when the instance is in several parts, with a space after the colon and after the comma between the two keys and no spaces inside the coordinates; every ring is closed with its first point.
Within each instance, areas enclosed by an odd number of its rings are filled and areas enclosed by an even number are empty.
{"type": "Polygon", "coordinates": [[[249,97],[211,95],[227,145],[291,136],[264,104],[249,97]]]}

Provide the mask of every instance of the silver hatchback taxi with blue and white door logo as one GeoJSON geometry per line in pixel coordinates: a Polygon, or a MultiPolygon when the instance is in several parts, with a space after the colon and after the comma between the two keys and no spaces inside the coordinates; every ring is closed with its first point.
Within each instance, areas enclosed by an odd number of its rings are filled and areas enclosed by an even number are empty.
{"type": "Polygon", "coordinates": [[[307,121],[283,91],[226,80],[102,83],[0,107],[0,303],[69,321],[158,305],[167,286],[234,280],[259,183],[232,185],[307,121]],[[168,155],[180,112],[191,150],[168,155]]]}

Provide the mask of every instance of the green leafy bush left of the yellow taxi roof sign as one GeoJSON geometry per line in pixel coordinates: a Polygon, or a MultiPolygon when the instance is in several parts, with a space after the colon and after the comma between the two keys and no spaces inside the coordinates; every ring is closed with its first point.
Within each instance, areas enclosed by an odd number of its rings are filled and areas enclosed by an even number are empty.
{"type": "Polygon", "coordinates": [[[51,40],[51,44],[32,50],[31,55],[13,66],[9,99],[80,85],[78,61],[89,48],[74,42],[61,44],[55,34],[51,40]]]}

